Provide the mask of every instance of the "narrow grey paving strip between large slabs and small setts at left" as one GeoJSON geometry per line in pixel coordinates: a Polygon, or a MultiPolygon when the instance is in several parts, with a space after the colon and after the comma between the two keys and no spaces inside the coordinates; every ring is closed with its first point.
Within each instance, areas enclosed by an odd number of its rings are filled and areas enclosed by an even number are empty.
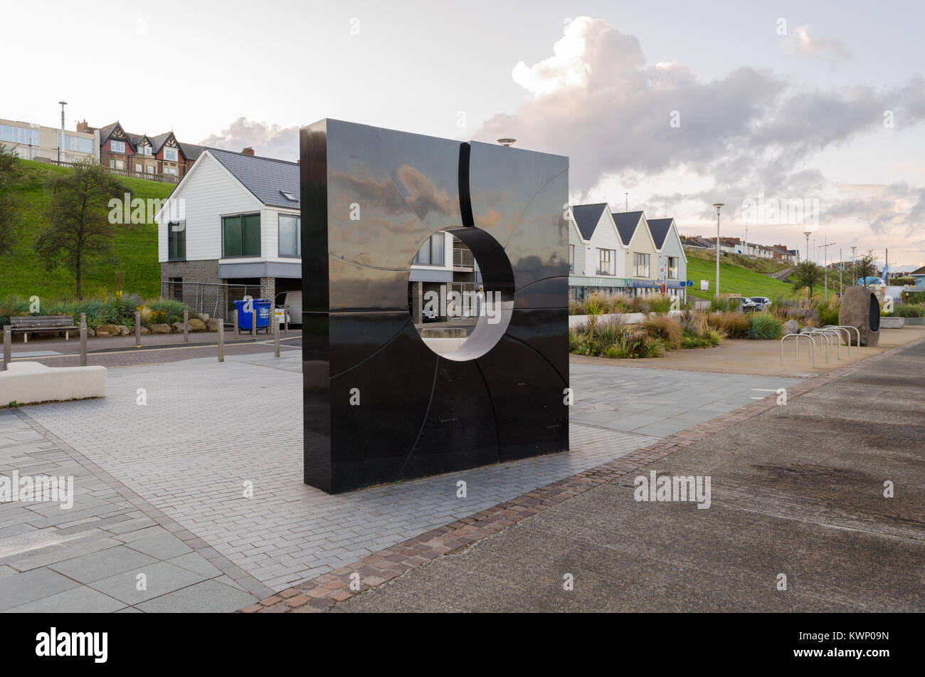
{"type": "Polygon", "coordinates": [[[256,597],[263,597],[267,593],[273,592],[271,588],[268,588],[266,585],[262,584],[256,578],[254,578],[250,573],[245,572],[237,564],[228,560],[225,556],[219,553],[215,548],[212,548],[208,543],[203,541],[202,538],[199,538],[195,534],[191,533],[187,529],[183,528],[183,525],[169,518],[164,512],[159,511],[151,503],[142,499],[137,493],[132,491],[128,486],[125,486],[116,477],[112,474],[107,473],[103,468],[98,464],[94,463],[86,456],[80,453],[77,449],[74,449],[67,442],[65,442],[60,437],[57,437],[47,428],[43,427],[37,423],[31,416],[25,412],[22,412],[19,409],[12,409],[15,415],[17,415],[24,423],[30,425],[33,430],[35,430],[39,435],[47,439],[49,442],[54,444],[57,449],[64,451],[68,456],[88,471],[90,471],[93,476],[99,481],[103,482],[106,486],[109,486],[111,489],[116,491],[122,498],[129,501],[135,508],[139,511],[142,511],[148,518],[154,520],[155,523],[158,523],[160,526],[164,527],[166,531],[170,532],[172,535],[179,538],[187,547],[192,548],[195,552],[198,552],[206,560],[209,561],[216,569],[226,574],[228,578],[233,580],[236,584],[240,585],[241,588],[247,592],[253,594],[256,597]]]}

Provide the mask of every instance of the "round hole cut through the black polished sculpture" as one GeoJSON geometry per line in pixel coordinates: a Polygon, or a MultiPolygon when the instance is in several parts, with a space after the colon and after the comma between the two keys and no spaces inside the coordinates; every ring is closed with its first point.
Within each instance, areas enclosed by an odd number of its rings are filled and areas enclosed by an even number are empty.
{"type": "Polygon", "coordinates": [[[446,228],[418,249],[408,311],[425,346],[457,362],[494,348],[511,322],[514,279],[498,240],[475,227],[446,228]]]}

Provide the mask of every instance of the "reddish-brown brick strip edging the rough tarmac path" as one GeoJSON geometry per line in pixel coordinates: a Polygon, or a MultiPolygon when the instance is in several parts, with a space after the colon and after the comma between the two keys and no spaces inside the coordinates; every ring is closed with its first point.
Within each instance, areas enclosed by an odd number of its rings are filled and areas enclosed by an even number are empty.
{"type": "MultiPolygon", "coordinates": [[[[925,343],[925,339],[912,341],[866,360],[846,364],[826,374],[808,378],[796,386],[787,388],[787,397],[792,399],[803,395],[846,375],[854,374],[862,368],[867,368],[870,364],[878,363],[887,356],[907,351],[920,343],[925,343]]],[[[335,604],[371,587],[382,585],[426,561],[435,560],[440,555],[465,548],[488,535],[497,534],[526,517],[544,511],[564,500],[572,499],[595,486],[629,474],[636,468],[660,461],[679,449],[712,437],[726,428],[739,425],[776,406],[776,396],[771,394],[733,412],[721,414],[705,423],[664,437],[648,447],[636,449],[615,461],[603,463],[583,473],[573,474],[551,485],[541,486],[515,499],[476,512],[470,517],[414,536],[390,548],[379,550],[362,560],[265,597],[256,604],[240,609],[240,612],[311,613],[330,609],[335,604]],[[351,590],[351,578],[352,580],[356,578],[353,574],[360,576],[358,590],[351,590]]],[[[356,587],[355,584],[354,587],[356,587]]]]}

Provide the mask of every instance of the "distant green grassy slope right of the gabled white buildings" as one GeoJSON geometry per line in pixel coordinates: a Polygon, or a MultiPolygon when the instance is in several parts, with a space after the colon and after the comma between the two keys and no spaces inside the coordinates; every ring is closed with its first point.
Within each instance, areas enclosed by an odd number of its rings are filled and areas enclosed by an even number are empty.
{"type": "MultiPolygon", "coordinates": [[[[689,288],[687,293],[691,296],[696,296],[698,299],[712,299],[715,292],[713,287],[716,282],[716,254],[713,253],[708,257],[704,255],[705,252],[686,253],[687,279],[694,280],[694,286],[689,288]],[[709,291],[700,290],[700,280],[702,279],[709,280],[709,291]]],[[[752,261],[745,256],[736,256],[734,254],[721,256],[721,294],[737,293],[743,296],[767,296],[769,299],[774,299],[778,296],[789,298],[793,294],[793,285],[738,265],[741,262],[767,267],[769,269],[766,272],[776,272],[788,267],[772,261],[752,261]],[[774,267],[771,268],[771,266],[774,267]]]]}

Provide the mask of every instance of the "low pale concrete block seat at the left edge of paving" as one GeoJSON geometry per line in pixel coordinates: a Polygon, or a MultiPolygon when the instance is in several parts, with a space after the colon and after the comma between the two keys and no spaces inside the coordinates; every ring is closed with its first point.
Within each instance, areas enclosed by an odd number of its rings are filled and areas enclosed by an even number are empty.
{"type": "Polygon", "coordinates": [[[105,398],[104,366],[47,367],[37,362],[9,363],[0,372],[0,404],[105,398]]]}

